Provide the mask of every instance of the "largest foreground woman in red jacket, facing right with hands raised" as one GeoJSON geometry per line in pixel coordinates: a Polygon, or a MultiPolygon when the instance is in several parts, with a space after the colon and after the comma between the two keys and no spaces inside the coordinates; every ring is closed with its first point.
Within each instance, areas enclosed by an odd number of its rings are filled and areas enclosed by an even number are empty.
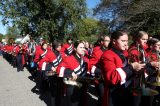
{"type": "Polygon", "coordinates": [[[134,62],[128,64],[123,51],[128,46],[128,34],[115,31],[111,35],[111,49],[101,56],[104,78],[103,106],[130,106],[131,97],[127,89],[133,70],[139,71],[145,64],[134,62]],[[109,105],[110,104],[110,105],[109,105]]]}

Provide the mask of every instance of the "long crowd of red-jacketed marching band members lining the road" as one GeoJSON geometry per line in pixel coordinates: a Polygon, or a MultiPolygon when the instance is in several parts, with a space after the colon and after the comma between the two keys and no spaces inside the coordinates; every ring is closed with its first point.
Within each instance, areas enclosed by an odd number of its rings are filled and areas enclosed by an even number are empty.
{"type": "Polygon", "coordinates": [[[128,42],[127,32],[115,31],[94,45],[32,39],[1,44],[0,51],[18,72],[27,67],[38,77],[39,92],[50,88],[54,106],[89,106],[90,87],[97,106],[160,106],[160,39],[139,31],[128,42]]]}

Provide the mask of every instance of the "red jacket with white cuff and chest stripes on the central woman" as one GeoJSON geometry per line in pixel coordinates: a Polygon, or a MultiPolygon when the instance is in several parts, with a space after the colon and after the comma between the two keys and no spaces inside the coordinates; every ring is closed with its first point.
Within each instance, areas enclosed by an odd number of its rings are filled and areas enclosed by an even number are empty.
{"type": "Polygon", "coordinates": [[[77,54],[66,57],[57,68],[59,77],[71,77],[72,72],[74,72],[78,76],[86,73],[88,70],[88,60],[85,59],[77,54]]]}

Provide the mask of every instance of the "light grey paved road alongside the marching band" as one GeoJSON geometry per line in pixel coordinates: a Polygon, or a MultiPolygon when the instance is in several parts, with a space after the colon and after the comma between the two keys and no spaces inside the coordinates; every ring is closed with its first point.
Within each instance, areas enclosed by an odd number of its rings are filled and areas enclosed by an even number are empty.
{"type": "Polygon", "coordinates": [[[46,106],[44,98],[31,91],[36,85],[25,69],[17,72],[0,56],[0,106],[46,106]]]}

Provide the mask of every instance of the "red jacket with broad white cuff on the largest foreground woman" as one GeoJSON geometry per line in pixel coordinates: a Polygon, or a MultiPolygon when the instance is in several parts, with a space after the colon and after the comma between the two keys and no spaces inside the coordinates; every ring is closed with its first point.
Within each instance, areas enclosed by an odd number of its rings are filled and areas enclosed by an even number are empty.
{"type": "Polygon", "coordinates": [[[114,48],[103,53],[100,63],[105,83],[103,106],[109,106],[109,90],[127,84],[133,68],[128,64],[123,53],[114,48]]]}

